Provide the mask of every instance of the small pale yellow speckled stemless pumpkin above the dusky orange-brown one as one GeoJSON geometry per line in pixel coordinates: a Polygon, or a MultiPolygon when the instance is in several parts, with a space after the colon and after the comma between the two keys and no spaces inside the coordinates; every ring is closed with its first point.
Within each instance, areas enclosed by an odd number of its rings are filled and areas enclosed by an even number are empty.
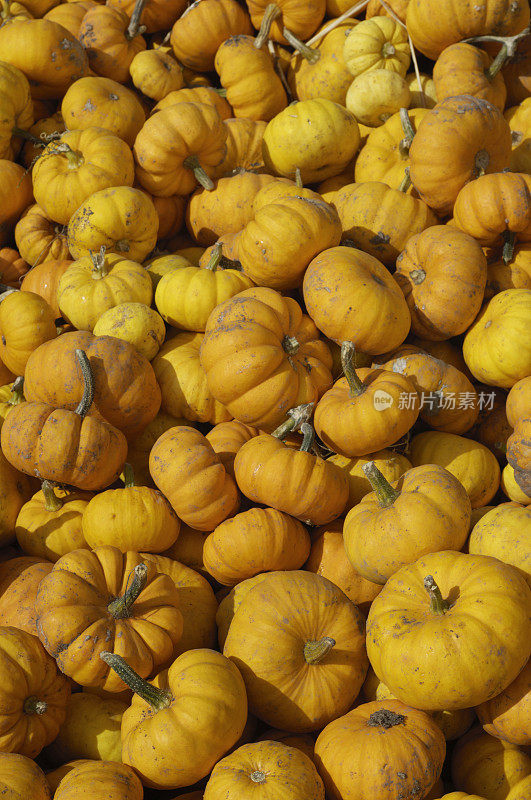
{"type": "Polygon", "coordinates": [[[114,336],[129,342],[148,361],[155,358],[166,337],[164,320],[145,302],[109,308],[98,318],[92,332],[94,336],[114,336]]]}

